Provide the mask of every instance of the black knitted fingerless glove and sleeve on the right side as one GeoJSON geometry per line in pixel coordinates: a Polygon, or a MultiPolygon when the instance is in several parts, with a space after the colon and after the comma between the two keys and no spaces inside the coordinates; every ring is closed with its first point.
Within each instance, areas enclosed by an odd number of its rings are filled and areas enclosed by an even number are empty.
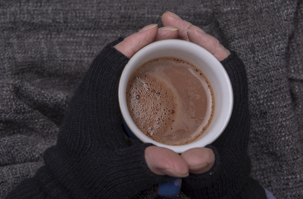
{"type": "Polygon", "coordinates": [[[215,164],[204,174],[190,174],[181,190],[191,199],[266,198],[264,189],[249,178],[247,154],[250,118],[245,66],[236,52],[221,61],[231,80],[234,105],[230,121],[220,137],[206,147],[215,153],[215,164]]]}

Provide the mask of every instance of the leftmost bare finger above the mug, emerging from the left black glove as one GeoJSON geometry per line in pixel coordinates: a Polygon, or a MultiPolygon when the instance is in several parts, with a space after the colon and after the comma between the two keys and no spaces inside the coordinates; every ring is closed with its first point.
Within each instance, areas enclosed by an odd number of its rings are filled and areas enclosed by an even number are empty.
{"type": "Polygon", "coordinates": [[[122,42],[114,46],[127,58],[131,58],[138,50],[155,41],[158,34],[158,24],[150,24],[142,28],[138,33],[126,37],[122,42]]]}

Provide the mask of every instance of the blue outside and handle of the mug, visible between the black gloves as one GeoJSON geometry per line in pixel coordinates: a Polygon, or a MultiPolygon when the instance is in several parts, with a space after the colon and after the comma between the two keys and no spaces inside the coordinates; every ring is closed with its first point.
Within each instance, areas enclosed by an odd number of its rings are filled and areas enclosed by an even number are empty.
{"type": "MultiPolygon", "coordinates": [[[[140,141],[128,128],[124,118],[122,117],[123,125],[125,128],[125,134],[129,137],[133,144],[142,144],[140,141]]],[[[181,189],[182,178],[169,177],[168,181],[162,182],[160,184],[154,185],[154,189],[159,196],[172,197],[179,194],[181,189]]]]}

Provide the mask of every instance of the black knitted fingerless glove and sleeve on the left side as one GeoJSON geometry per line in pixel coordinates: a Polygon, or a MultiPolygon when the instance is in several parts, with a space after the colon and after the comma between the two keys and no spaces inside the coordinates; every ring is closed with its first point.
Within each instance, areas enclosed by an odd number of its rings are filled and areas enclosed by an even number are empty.
{"type": "Polygon", "coordinates": [[[165,179],[152,173],[142,144],[128,147],[118,104],[118,82],[128,58],[106,46],[94,59],[68,104],[57,144],[45,166],[11,198],[131,198],[165,179]]]}

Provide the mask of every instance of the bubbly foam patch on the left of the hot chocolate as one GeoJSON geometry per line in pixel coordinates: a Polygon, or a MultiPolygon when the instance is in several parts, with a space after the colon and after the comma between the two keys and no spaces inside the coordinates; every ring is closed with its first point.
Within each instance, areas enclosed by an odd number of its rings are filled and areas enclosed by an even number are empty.
{"type": "Polygon", "coordinates": [[[135,73],[129,80],[127,104],[136,126],[155,141],[171,129],[178,114],[171,88],[151,75],[135,73]]]}

